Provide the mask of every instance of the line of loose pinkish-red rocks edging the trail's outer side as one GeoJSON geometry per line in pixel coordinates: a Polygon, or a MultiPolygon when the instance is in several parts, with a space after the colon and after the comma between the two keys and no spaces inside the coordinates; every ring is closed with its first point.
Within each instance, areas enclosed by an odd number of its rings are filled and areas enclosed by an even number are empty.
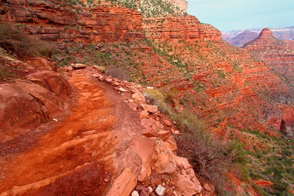
{"type": "MultiPolygon", "coordinates": [[[[93,70],[97,70],[95,66],[93,70]]],[[[145,131],[141,136],[133,136],[129,145],[129,149],[136,152],[142,161],[141,172],[138,176],[139,182],[142,184],[149,182],[153,172],[158,174],[171,174],[175,176],[174,179],[168,181],[163,179],[162,184],[159,184],[156,190],[153,190],[157,195],[194,196],[202,193],[203,196],[213,196],[214,186],[210,183],[205,183],[202,187],[188,160],[183,157],[178,157],[173,153],[177,149],[173,134],[180,133],[177,130],[174,131],[176,127],[171,123],[172,120],[160,113],[157,110],[157,106],[145,103],[146,99],[143,96],[145,89],[141,85],[121,81],[111,76],[102,75],[101,73],[94,73],[92,76],[98,78],[100,81],[109,83],[119,94],[133,94],[131,99],[124,100],[124,102],[128,105],[132,103],[137,106],[136,108],[140,108],[141,112],[139,117],[141,124],[145,127],[145,131]],[[148,111],[147,108],[152,109],[148,111]],[[165,182],[174,186],[168,186],[165,182]]],[[[129,105],[129,107],[134,110],[133,106],[131,107],[129,105]]],[[[111,196],[114,193],[118,196],[129,196],[134,189],[132,184],[133,178],[133,173],[129,172],[128,168],[125,169],[117,177],[107,196],[111,196]],[[129,173],[127,179],[125,179],[126,173],[129,173]],[[133,188],[131,189],[131,187],[133,188]],[[126,190],[128,191],[126,192],[126,190]]],[[[140,187],[142,185],[137,187],[132,195],[139,195],[139,192],[143,195],[147,193],[148,189],[152,189],[151,187],[140,189],[140,187]]]]}

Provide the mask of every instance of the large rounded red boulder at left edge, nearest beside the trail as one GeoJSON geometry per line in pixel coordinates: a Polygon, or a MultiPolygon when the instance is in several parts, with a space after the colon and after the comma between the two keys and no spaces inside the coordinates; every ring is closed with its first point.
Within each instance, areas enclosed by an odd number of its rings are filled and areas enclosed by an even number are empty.
{"type": "Polygon", "coordinates": [[[0,92],[0,143],[62,116],[64,101],[38,84],[16,80],[0,84],[0,92]]]}

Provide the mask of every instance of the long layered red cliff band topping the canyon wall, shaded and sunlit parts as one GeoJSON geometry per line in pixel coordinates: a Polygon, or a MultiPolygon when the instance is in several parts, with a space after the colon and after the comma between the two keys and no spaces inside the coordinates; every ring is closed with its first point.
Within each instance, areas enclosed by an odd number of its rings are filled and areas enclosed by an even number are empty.
{"type": "MultiPolygon", "coordinates": [[[[139,11],[125,7],[73,5],[74,9],[83,10],[76,13],[66,4],[60,6],[55,0],[49,1],[0,0],[0,8],[5,13],[0,15],[0,21],[22,24],[20,27],[24,32],[53,42],[134,41],[145,38],[144,31],[147,38],[157,41],[221,40],[221,31],[212,25],[201,24],[190,15],[144,19],[143,24],[139,11]]],[[[60,46],[60,49],[64,48],[64,44],[60,46]]]]}

